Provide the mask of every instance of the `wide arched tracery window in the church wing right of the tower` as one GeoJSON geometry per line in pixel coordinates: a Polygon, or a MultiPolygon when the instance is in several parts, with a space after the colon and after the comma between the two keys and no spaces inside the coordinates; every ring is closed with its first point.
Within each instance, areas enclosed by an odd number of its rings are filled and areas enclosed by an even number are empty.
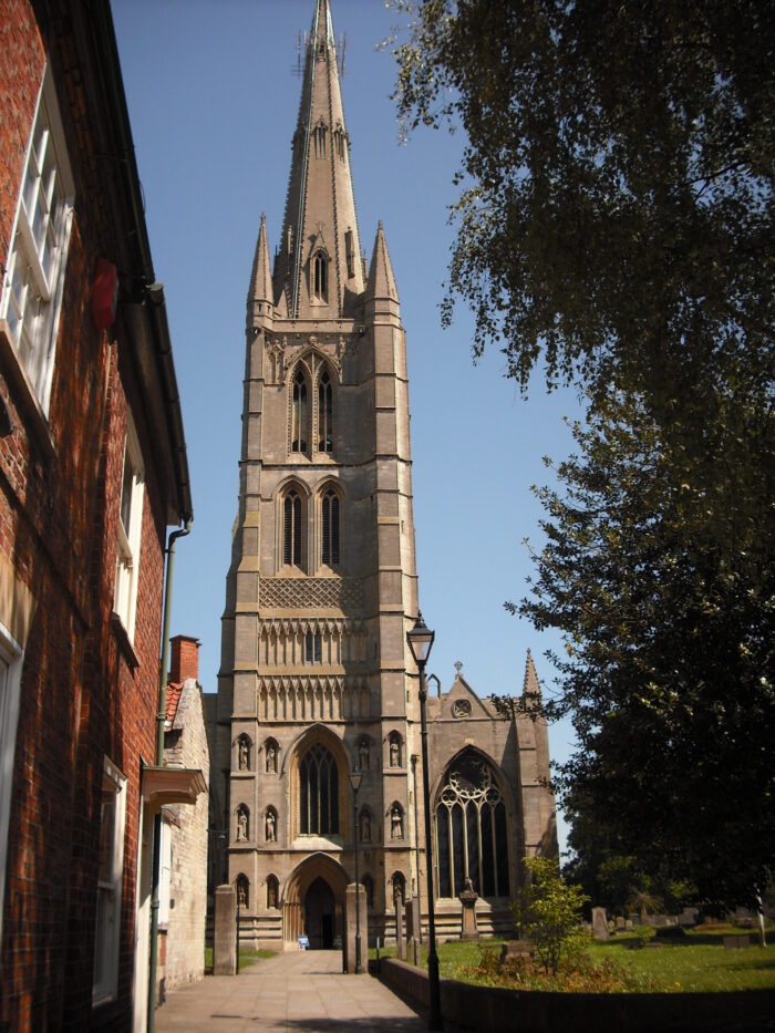
{"type": "Polygon", "coordinates": [[[506,804],[490,765],[466,750],[447,769],[436,806],[438,896],[469,878],[480,897],[510,895],[506,804]]]}

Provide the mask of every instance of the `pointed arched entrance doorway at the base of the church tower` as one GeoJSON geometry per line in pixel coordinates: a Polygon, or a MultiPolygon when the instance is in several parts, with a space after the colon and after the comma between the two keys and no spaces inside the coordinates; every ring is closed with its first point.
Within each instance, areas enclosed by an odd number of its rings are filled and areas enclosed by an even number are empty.
{"type": "Polygon", "coordinates": [[[313,854],[293,871],[282,901],[282,939],[291,947],[302,934],[310,948],[340,946],[344,934],[347,872],[327,854],[313,854]]]}

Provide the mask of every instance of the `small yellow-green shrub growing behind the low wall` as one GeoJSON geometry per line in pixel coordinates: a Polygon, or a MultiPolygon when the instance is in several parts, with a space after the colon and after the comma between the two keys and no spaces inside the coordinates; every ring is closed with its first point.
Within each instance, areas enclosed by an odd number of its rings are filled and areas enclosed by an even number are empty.
{"type": "Polygon", "coordinates": [[[519,930],[533,941],[536,957],[547,972],[557,974],[560,961],[579,939],[581,908],[587,900],[581,887],[565,882],[551,857],[526,857],[529,881],[514,903],[519,930]]]}

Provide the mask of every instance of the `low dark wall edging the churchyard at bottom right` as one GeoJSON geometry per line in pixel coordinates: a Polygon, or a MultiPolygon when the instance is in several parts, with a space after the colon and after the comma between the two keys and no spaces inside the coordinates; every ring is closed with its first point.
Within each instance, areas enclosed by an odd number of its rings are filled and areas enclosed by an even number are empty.
{"type": "MultiPolygon", "coordinates": [[[[386,958],[380,974],[391,990],[427,1008],[424,970],[386,958]]],[[[446,1030],[472,1033],[766,1033],[775,1030],[775,991],[548,993],[443,979],[442,1014],[446,1030]]]]}

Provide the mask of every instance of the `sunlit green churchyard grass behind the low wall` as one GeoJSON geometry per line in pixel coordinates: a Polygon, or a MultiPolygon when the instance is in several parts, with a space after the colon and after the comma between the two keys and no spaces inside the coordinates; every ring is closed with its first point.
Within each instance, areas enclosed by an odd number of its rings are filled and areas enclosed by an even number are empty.
{"type": "MultiPolygon", "coordinates": [[[[659,947],[633,949],[636,933],[611,937],[606,943],[590,941],[589,952],[596,963],[610,958],[636,972],[653,977],[663,991],[724,991],[775,989],[775,944],[725,950],[724,933],[738,929],[690,931],[675,942],[661,942],[659,947]]],[[[768,933],[772,941],[773,932],[768,933]]],[[[755,937],[752,936],[752,941],[755,937]]],[[[450,941],[438,944],[438,968],[447,979],[466,979],[458,969],[475,964],[480,947],[498,948],[503,940],[450,941]]],[[[650,940],[649,942],[655,942],[650,940]]],[[[395,949],[382,949],[382,957],[395,957],[395,949]]],[[[374,957],[373,950],[370,957],[374,957]]],[[[425,959],[425,954],[423,954],[425,959]]]]}

